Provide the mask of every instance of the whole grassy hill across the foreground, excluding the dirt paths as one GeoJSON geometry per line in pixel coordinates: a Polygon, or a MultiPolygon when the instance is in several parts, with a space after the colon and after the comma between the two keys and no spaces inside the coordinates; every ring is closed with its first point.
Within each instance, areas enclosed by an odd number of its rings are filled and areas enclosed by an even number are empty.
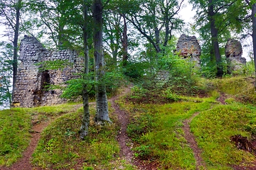
{"type": "MultiPolygon", "coordinates": [[[[253,166],[255,154],[238,149],[234,135],[255,140],[256,93],[248,77],[198,79],[190,95],[169,87],[134,86],[117,103],[129,114],[128,142],[134,159],[158,169],[196,169],[197,161],[186,140],[184,121],[201,150],[199,169],[253,166]],[[196,89],[196,90],[195,90],[196,89]]],[[[95,114],[91,104],[91,119],[95,114]]],[[[79,140],[82,107],[78,103],[0,111],[0,166],[11,166],[28,147],[33,127],[48,122],[31,157],[43,169],[137,169],[119,157],[119,122],[110,106],[112,125],[91,121],[90,135],[79,140]]],[[[254,148],[252,148],[253,150],[254,148]]]]}

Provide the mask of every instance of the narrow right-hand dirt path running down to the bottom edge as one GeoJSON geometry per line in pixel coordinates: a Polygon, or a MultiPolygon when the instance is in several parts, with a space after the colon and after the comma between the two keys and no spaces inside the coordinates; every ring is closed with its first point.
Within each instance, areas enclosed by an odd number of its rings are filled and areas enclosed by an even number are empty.
{"type": "Polygon", "coordinates": [[[206,167],[206,163],[203,161],[203,159],[201,157],[202,151],[198,147],[198,145],[196,143],[196,139],[195,139],[193,133],[191,132],[190,127],[189,127],[189,124],[191,123],[191,120],[193,120],[193,118],[195,118],[197,115],[199,115],[199,113],[194,113],[191,116],[191,118],[184,120],[182,129],[185,133],[184,137],[188,141],[189,147],[191,147],[191,149],[193,150],[194,157],[196,159],[196,169],[200,169],[200,166],[206,167]]]}

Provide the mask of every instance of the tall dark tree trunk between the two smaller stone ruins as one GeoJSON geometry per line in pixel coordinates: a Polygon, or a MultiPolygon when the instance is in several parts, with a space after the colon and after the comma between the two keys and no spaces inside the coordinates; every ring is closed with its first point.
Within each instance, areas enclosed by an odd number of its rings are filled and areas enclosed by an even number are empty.
{"type": "Polygon", "coordinates": [[[211,41],[213,45],[213,51],[215,55],[216,65],[217,65],[217,76],[222,77],[223,76],[223,68],[221,66],[221,56],[220,56],[220,48],[218,45],[218,29],[215,27],[215,19],[213,18],[215,16],[215,13],[213,11],[213,1],[209,0],[209,6],[208,6],[208,17],[210,20],[210,35],[211,35],[211,41]]]}

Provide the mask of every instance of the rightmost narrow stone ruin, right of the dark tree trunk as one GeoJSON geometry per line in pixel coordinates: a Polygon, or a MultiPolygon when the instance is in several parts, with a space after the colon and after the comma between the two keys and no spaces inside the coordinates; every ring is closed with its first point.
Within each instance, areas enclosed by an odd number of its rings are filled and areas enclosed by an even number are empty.
{"type": "Polygon", "coordinates": [[[245,57],[242,57],[242,45],[238,40],[228,39],[225,45],[225,56],[228,62],[228,72],[237,71],[246,64],[245,57]]]}

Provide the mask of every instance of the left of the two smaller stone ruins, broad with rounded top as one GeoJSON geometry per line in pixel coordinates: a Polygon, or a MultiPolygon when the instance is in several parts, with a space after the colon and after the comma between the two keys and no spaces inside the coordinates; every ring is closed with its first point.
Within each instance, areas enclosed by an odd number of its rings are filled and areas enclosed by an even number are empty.
{"type": "Polygon", "coordinates": [[[200,64],[201,46],[195,36],[187,36],[182,34],[178,38],[176,52],[184,58],[191,58],[200,64]]]}

